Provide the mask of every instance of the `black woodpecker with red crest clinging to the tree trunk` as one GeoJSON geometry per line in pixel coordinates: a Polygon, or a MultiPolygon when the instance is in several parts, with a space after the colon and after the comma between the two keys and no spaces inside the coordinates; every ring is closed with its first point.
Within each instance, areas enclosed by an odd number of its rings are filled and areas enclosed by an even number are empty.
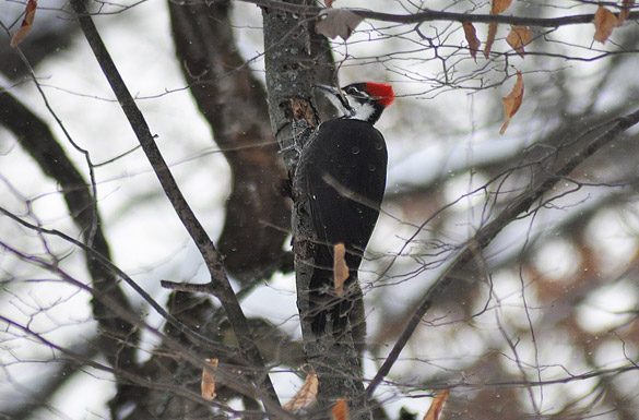
{"type": "Polygon", "coordinates": [[[353,291],[351,285],[357,281],[386,189],[386,143],[372,124],[392,104],[394,93],[390,85],[379,83],[355,83],[342,91],[318,87],[343,116],[322,122],[310,135],[295,178],[309,194],[317,232],[309,285],[311,331],[316,335],[324,333],[330,314],[332,332],[340,335],[348,325],[354,302],[360,299],[360,289],[353,291]],[[345,245],[348,266],[342,296],[335,291],[333,279],[333,247],[338,243],[345,245]]]}

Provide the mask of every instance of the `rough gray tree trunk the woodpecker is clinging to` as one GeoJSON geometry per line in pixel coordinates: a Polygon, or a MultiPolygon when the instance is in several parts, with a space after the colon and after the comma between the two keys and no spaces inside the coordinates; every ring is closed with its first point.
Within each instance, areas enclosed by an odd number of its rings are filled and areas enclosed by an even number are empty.
{"type": "MultiPolygon", "coordinates": [[[[310,4],[305,2],[304,4],[310,4]]],[[[284,163],[294,173],[298,152],[308,134],[319,123],[312,85],[318,73],[320,83],[332,74],[312,25],[294,15],[263,9],[267,88],[271,127],[282,149],[284,163]],[[317,55],[313,53],[318,51],[317,55]],[[321,70],[321,71],[318,71],[321,70]]],[[[351,335],[335,341],[332,334],[316,337],[306,314],[309,310],[308,289],[312,275],[312,248],[317,241],[309,212],[308,191],[293,183],[292,216],[293,251],[297,284],[297,305],[300,314],[304,348],[308,362],[319,380],[318,418],[330,418],[330,408],[341,398],[348,400],[353,419],[369,419],[360,396],[360,360],[351,335]]]]}

